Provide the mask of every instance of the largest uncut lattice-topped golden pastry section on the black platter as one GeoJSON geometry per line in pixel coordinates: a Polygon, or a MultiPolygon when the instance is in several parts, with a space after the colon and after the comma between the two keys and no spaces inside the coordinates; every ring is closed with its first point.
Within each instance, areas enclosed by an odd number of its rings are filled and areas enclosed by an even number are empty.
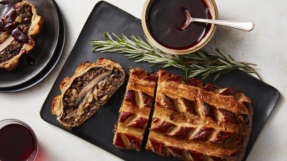
{"type": "Polygon", "coordinates": [[[146,149],[181,160],[242,160],[253,104],[239,90],[158,72],[146,149]]]}

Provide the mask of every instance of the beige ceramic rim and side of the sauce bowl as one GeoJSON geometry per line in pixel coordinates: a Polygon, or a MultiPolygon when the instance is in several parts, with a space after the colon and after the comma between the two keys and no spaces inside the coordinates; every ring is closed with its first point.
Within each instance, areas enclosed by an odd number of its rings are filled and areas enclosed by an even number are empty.
{"type": "MultiPolygon", "coordinates": [[[[148,12],[149,9],[151,7],[151,3],[155,1],[155,0],[146,0],[144,3],[144,7],[142,10],[142,14],[141,14],[141,24],[142,27],[144,29],[144,33],[147,37],[147,39],[151,42],[152,45],[154,45],[156,48],[160,49],[163,52],[167,52],[169,54],[175,54],[175,55],[184,55],[184,54],[189,54],[192,52],[196,52],[197,50],[201,49],[202,47],[204,47],[212,38],[212,36],[214,35],[214,32],[216,30],[217,25],[216,24],[212,24],[211,29],[209,30],[209,32],[207,33],[207,35],[201,39],[201,41],[199,42],[199,45],[196,45],[190,49],[185,49],[185,50],[175,50],[175,49],[169,49],[166,48],[164,46],[162,46],[161,44],[159,44],[151,35],[151,33],[148,30],[148,23],[147,23],[147,16],[148,16],[148,12]]],[[[215,11],[215,15],[212,15],[212,18],[214,20],[218,20],[218,10],[217,10],[217,6],[214,0],[203,0],[203,1],[210,1],[212,6],[208,6],[213,7],[214,11],[215,11]]]]}

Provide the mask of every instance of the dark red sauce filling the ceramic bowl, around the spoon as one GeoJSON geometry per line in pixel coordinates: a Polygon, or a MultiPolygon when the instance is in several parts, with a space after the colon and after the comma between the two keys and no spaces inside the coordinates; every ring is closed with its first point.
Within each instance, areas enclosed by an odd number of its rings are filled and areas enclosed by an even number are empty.
{"type": "Polygon", "coordinates": [[[162,46],[185,50],[194,47],[210,31],[211,24],[193,22],[181,30],[187,10],[193,18],[212,19],[204,0],[155,0],[149,10],[148,25],[152,37],[162,46]]]}

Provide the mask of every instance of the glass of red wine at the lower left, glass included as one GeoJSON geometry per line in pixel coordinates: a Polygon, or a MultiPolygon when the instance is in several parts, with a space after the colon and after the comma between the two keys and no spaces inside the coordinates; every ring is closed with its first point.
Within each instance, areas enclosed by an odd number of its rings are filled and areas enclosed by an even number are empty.
{"type": "Polygon", "coordinates": [[[0,160],[34,161],[38,152],[36,134],[16,119],[0,121],[0,160]]]}

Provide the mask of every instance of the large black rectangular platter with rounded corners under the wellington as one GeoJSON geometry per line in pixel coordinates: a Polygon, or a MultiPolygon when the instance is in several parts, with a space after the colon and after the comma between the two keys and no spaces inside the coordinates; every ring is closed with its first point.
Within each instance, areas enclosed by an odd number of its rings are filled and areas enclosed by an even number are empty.
{"type": "MultiPolygon", "coordinates": [[[[158,154],[152,153],[151,151],[147,151],[144,148],[144,145],[140,152],[135,150],[118,149],[113,145],[114,133],[112,132],[112,129],[114,128],[114,124],[117,122],[117,114],[126,89],[127,80],[107,101],[107,103],[92,117],[82,123],[79,127],[74,127],[71,131],[66,130],[64,126],[56,120],[56,115],[51,114],[52,100],[55,96],[61,94],[58,89],[61,81],[67,76],[72,77],[76,67],[84,61],[94,63],[100,57],[112,59],[121,64],[126,74],[128,72],[127,68],[130,68],[131,66],[141,67],[146,71],[158,70],[155,66],[149,67],[149,63],[137,63],[132,60],[127,60],[124,54],[101,54],[100,52],[91,52],[93,47],[90,45],[90,40],[104,40],[103,33],[106,30],[110,33],[114,32],[117,35],[124,33],[126,36],[133,34],[135,36],[140,36],[141,38],[144,37],[141,21],[138,18],[135,18],[129,13],[126,13],[105,1],[98,2],[88,17],[71,54],[42,106],[40,111],[42,119],[94,145],[97,145],[124,160],[178,160],[172,157],[164,158],[158,154]]],[[[175,67],[167,67],[164,68],[164,70],[167,70],[172,74],[182,75],[178,73],[181,71],[175,67]]],[[[185,75],[182,76],[185,77],[185,75]]],[[[234,89],[239,89],[247,97],[251,98],[254,103],[253,129],[245,157],[243,159],[245,160],[264,123],[277,103],[280,94],[274,87],[239,70],[223,74],[215,82],[213,82],[214,76],[215,75],[211,75],[205,79],[204,83],[212,83],[213,85],[223,88],[231,86],[234,89]]],[[[201,78],[198,77],[197,79],[201,78]]]]}

